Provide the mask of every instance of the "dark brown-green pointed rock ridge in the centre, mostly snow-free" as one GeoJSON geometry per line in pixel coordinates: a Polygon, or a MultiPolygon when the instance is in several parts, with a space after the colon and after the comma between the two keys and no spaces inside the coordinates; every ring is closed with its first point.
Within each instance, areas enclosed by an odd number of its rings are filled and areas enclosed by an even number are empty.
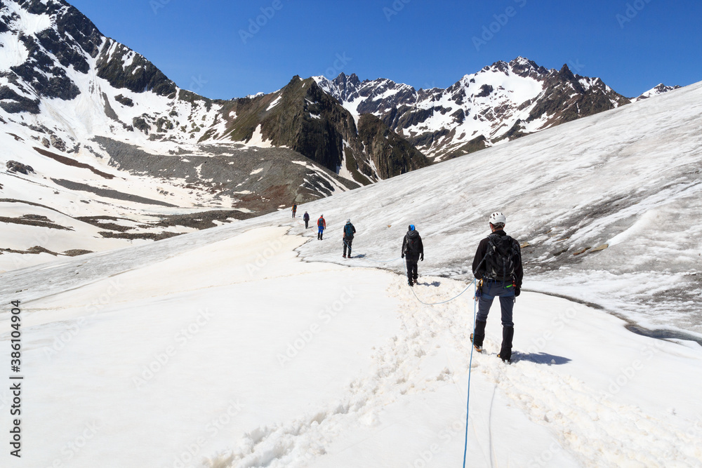
{"type": "Polygon", "coordinates": [[[423,154],[384,124],[382,136],[370,130],[360,135],[352,114],[314,79],[295,76],[276,93],[236,100],[225,105],[223,119],[230,120],[226,136],[232,140],[251,142],[258,138],[273,146],[289,147],[361,184],[429,164],[423,154]],[[368,144],[386,137],[395,142],[392,152],[381,152],[383,145],[375,145],[369,152],[368,144]],[[386,158],[388,161],[383,161],[386,158]]]}

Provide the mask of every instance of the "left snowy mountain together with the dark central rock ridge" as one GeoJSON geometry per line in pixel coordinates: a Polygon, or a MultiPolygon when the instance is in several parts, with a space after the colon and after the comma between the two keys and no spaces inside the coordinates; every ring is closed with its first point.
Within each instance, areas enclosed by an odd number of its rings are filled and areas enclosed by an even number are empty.
{"type": "MultiPolygon", "coordinates": [[[[361,84],[355,75],[337,82],[361,84]]],[[[27,180],[0,173],[0,198],[22,206],[57,198],[51,208],[61,213],[80,200],[81,218],[127,220],[99,231],[107,240],[98,241],[95,225],[65,220],[79,232],[72,245],[84,246],[68,250],[212,227],[430,163],[385,123],[357,117],[300,76],[274,93],[210,100],[178,88],[64,1],[0,4],[0,145],[7,157],[0,166],[34,169],[27,180]],[[188,217],[188,210],[212,212],[188,217]]],[[[37,246],[31,232],[41,228],[22,228],[29,231],[12,255],[23,258],[37,246]]],[[[62,252],[64,245],[41,247],[62,252]]]]}

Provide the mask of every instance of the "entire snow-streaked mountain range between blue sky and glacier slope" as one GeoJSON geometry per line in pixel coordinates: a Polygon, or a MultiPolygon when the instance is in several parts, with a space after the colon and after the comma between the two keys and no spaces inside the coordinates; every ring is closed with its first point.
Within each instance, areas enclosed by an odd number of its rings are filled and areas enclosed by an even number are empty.
{"type": "Polygon", "coordinates": [[[446,89],[294,76],[274,93],[211,100],[179,88],[63,0],[4,0],[0,199],[59,209],[80,198],[86,220],[140,218],[102,236],[154,239],[344,192],[670,89],[628,99],[565,65],[517,58],[446,89]],[[18,164],[34,172],[18,173],[18,164]]]}

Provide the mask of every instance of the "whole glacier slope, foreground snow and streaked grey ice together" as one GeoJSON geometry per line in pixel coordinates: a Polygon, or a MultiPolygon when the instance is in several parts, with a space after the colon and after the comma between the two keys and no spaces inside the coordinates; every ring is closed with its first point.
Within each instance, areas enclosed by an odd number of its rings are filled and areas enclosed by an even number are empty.
{"type": "Polygon", "coordinates": [[[458,466],[474,302],[417,297],[469,285],[501,210],[527,275],[515,362],[496,358],[496,306],[472,356],[469,466],[700,466],[702,347],[625,325],[701,336],[701,98],[696,84],[298,207],[324,214],[324,241],[282,211],[2,274],[22,301],[22,463],[458,466]],[[410,223],[416,296],[398,259],[410,223]]]}

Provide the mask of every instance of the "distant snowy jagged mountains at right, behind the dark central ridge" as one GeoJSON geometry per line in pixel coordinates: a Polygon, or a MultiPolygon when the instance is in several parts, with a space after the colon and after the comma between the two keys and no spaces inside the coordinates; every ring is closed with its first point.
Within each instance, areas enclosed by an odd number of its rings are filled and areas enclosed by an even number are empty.
{"type": "Polygon", "coordinates": [[[466,74],[449,88],[416,91],[388,79],[317,79],[352,114],[374,114],[435,161],[628,104],[602,80],[517,57],[466,74]]]}

